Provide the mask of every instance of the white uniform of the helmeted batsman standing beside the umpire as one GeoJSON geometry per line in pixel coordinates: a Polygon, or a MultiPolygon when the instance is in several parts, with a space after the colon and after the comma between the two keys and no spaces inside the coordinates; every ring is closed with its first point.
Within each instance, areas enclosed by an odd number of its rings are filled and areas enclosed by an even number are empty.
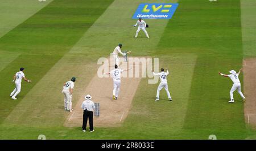
{"type": "Polygon", "coordinates": [[[67,81],[62,90],[62,93],[64,94],[64,107],[67,108],[68,111],[72,109],[72,97],[69,89],[74,89],[74,86],[75,83],[73,81],[67,81]]]}

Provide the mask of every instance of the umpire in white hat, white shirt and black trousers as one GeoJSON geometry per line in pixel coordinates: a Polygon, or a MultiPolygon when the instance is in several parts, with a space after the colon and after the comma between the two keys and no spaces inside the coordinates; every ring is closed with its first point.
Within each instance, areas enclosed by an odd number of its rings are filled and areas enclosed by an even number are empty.
{"type": "Polygon", "coordinates": [[[83,120],[82,120],[82,131],[86,131],[87,119],[89,118],[90,132],[93,132],[93,110],[95,109],[94,102],[90,101],[92,97],[90,94],[85,96],[85,101],[82,102],[82,109],[84,110],[83,120]]]}

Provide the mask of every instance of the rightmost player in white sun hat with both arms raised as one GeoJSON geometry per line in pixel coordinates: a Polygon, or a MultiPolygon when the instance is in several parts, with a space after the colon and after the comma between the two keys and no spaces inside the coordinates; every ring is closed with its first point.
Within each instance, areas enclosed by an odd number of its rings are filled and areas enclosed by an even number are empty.
{"type": "Polygon", "coordinates": [[[233,92],[237,89],[238,93],[240,94],[240,96],[243,98],[243,101],[245,101],[245,96],[243,96],[243,93],[241,92],[241,83],[240,80],[238,78],[240,72],[241,72],[242,68],[239,70],[239,72],[237,73],[234,70],[229,71],[229,75],[225,75],[222,74],[221,72],[218,72],[218,74],[224,76],[224,77],[229,77],[232,81],[233,81],[233,86],[230,89],[230,101],[229,103],[234,103],[234,97],[233,97],[233,92]]]}

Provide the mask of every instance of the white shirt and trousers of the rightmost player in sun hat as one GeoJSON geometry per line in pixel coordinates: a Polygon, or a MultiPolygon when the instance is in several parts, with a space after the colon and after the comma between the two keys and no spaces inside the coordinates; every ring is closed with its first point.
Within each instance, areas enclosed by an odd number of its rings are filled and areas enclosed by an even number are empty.
{"type": "Polygon", "coordinates": [[[240,96],[242,98],[245,98],[245,96],[243,96],[243,93],[241,92],[241,83],[240,80],[238,78],[239,74],[230,74],[228,75],[230,77],[230,79],[233,81],[233,86],[230,89],[230,100],[234,100],[233,97],[233,92],[237,89],[238,93],[240,94],[240,96]]]}

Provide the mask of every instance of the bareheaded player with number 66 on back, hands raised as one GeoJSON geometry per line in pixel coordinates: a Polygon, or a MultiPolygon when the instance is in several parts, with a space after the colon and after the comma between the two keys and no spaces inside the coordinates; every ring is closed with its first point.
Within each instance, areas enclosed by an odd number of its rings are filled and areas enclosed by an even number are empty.
{"type": "Polygon", "coordinates": [[[168,84],[167,84],[167,75],[169,74],[168,70],[166,69],[166,72],[164,72],[164,69],[161,68],[161,72],[159,72],[158,74],[155,74],[154,71],[152,71],[153,75],[155,76],[159,76],[160,77],[160,84],[158,86],[158,90],[156,91],[156,99],[155,101],[159,101],[159,92],[162,88],[166,89],[166,93],[167,93],[167,96],[169,98],[170,101],[172,101],[172,98],[171,98],[171,94],[168,90],[168,84]]]}

